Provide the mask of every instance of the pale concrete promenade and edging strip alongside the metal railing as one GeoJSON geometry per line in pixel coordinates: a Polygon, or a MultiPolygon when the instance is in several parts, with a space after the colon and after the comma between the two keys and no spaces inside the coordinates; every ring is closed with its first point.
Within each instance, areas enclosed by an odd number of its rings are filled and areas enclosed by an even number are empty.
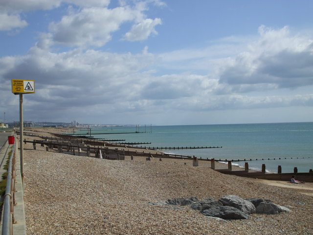
{"type": "MultiPolygon", "coordinates": [[[[8,154],[12,150],[12,144],[8,144],[8,141],[3,142],[7,136],[12,135],[11,133],[0,133],[0,177],[6,171],[3,166],[6,164],[8,159],[8,154]],[[4,143],[4,144],[3,144],[4,143]]],[[[16,140],[15,140],[16,141],[16,140]]],[[[19,141],[16,144],[16,183],[15,183],[15,201],[14,205],[14,219],[16,221],[13,224],[13,235],[26,235],[26,223],[25,223],[25,211],[24,211],[24,198],[23,198],[23,187],[22,187],[22,177],[21,177],[21,164],[20,164],[20,151],[18,149],[19,141]]],[[[0,233],[2,233],[2,216],[0,222],[0,233]]]]}

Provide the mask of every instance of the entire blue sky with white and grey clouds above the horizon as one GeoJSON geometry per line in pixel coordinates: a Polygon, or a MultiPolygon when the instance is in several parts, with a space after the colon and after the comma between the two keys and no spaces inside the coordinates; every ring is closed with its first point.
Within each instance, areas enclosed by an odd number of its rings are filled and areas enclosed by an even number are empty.
{"type": "Polygon", "coordinates": [[[1,0],[0,121],[313,121],[312,0],[1,0]],[[5,114],[4,114],[5,113],[5,114]]]}

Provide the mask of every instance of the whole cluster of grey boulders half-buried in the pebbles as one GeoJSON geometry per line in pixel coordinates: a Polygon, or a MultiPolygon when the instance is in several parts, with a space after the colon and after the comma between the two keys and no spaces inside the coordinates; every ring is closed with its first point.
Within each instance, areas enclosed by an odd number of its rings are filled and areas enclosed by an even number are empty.
{"type": "Polygon", "coordinates": [[[243,199],[236,195],[227,195],[219,200],[207,198],[199,201],[197,197],[189,197],[168,199],[166,202],[149,202],[149,204],[189,206],[193,210],[201,211],[203,215],[221,219],[247,219],[252,213],[276,214],[290,211],[287,207],[276,205],[267,199],[243,199]]]}

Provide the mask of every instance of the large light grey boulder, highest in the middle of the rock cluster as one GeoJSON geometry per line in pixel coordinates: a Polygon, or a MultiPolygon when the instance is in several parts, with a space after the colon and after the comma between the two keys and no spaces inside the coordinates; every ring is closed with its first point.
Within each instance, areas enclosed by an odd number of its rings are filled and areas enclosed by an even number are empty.
{"type": "Polygon", "coordinates": [[[255,206],[251,202],[236,195],[227,195],[221,197],[219,202],[221,202],[224,206],[237,208],[246,214],[255,213],[255,206]]]}

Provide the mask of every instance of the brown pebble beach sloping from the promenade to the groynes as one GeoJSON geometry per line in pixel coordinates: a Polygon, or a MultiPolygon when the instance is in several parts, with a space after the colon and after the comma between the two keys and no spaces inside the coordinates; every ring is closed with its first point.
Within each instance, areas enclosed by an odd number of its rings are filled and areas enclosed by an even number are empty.
{"type": "MultiPolygon", "coordinates": [[[[45,130],[36,133],[48,135],[45,130]]],[[[126,156],[124,161],[113,161],[47,152],[41,146],[33,150],[30,143],[24,149],[29,235],[313,235],[313,196],[294,188],[225,175],[206,164],[194,167],[186,160],[126,156]],[[229,194],[269,199],[291,212],[222,221],[188,206],[149,204],[229,194]]],[[[313,188],[313,183],[304,186],[313,188]]]]}

